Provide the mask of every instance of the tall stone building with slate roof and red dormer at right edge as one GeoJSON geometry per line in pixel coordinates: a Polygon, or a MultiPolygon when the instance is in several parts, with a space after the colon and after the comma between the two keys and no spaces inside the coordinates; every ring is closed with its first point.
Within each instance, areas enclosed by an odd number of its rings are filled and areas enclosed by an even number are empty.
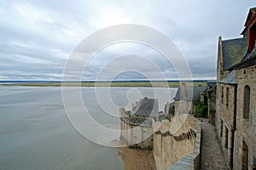
{"type": "Polygon", "coordinates": [[[231,169],[256,169],[256,8],[242,37],[218,38],[216,127],[231,169]]]}

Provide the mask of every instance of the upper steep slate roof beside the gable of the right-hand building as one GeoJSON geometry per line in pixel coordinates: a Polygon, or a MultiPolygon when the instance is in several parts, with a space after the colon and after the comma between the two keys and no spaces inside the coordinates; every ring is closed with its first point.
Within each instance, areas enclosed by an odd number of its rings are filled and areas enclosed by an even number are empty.
{"type": "Polygon", "coordinates": [[[244,56],[242,51],[242,38],[222,41],[224,69],[229,69],[232,65],[239,63],[244,56]]]}

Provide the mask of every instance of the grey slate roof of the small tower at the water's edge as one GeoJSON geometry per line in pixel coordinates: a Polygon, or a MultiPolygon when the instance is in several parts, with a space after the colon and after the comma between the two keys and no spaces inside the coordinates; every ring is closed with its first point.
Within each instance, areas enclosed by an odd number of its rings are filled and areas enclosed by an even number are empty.
{"type": "Polygon", "coordinates": [[[133,114],[136,116],[158,116],[158,99],[140,99],[133,114]]]}

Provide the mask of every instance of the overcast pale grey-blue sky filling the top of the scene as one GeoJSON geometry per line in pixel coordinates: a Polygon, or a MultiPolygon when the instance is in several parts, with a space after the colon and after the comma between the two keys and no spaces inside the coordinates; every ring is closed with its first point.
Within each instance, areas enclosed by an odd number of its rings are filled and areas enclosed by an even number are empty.
{"type": "MultiPolygon", "coordinates": [[[[195,79],[216,77],[218,36],[241,37],[253,0],[0,1],[0,80],[60,80],[67,59],[84,38],[119,24],[163,32],[188,60],[195,79]]],[[[83,79],[158,79],[149,59],[167,79],[175,68],[159,52],[136,42],[103,48],[84,66],[83,79]],[[119,56],[125,56],[120,58],[119,56]],[[106,64],[109,64],[105,67],[106,64]],[[127,66],[129,65],[129,67],[127,66]],[[123,69],[123,68],[126,68],[123,69]]]]}

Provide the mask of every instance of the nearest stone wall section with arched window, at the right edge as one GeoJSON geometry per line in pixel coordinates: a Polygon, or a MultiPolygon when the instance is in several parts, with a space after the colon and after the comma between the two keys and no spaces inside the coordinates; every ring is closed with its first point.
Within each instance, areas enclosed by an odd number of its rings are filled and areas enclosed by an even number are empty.
{"type": "Polygon", "coordinates": [[[256,65],[236,71],[237,82],[237,114],[236,114],[236,138],[234,169],[241,169],[243,144],[247,145],[248,169],[256,169],[256,65]],[[244,91],[250,87],[249,117],[243,117],[244,91]]]}

